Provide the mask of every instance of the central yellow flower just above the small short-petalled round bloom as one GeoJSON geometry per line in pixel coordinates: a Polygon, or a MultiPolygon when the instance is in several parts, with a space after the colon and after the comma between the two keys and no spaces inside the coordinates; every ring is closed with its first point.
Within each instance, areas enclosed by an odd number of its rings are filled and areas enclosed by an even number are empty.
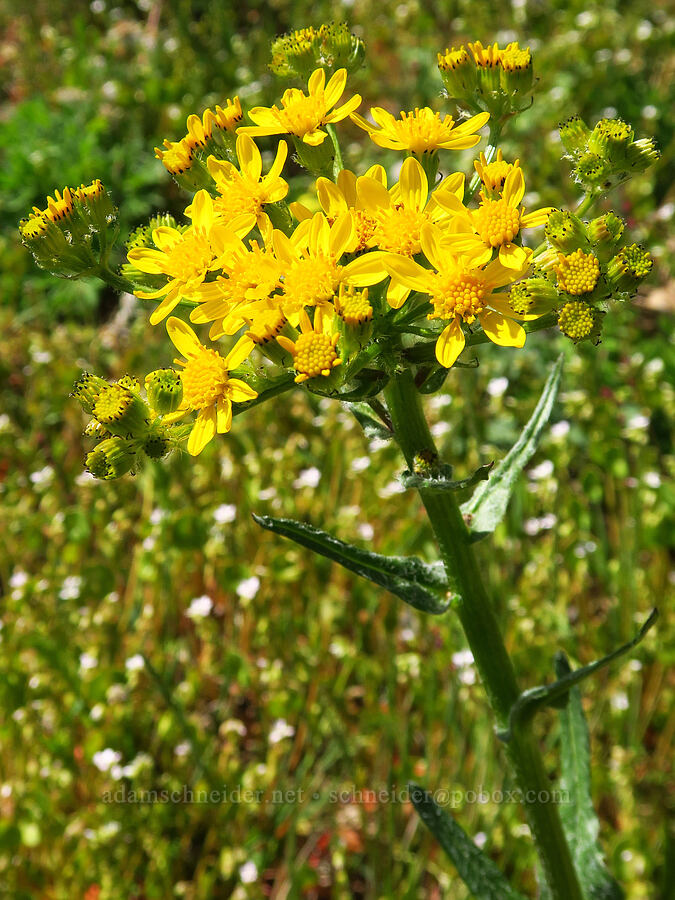
{"type": "Polygon", "coordinates": [[[274,252],[283,268],[281,308],[296,325],[300,310],[306,306],[331,303],[340,284],[368,287],[387,277],[383,253],[364,253],[340,264],[340,258],[354,244],[354,228],[349,214],[339,216],[332,225],[322,213],[301,222],[288,238],[273,234],[274,252]]]}

